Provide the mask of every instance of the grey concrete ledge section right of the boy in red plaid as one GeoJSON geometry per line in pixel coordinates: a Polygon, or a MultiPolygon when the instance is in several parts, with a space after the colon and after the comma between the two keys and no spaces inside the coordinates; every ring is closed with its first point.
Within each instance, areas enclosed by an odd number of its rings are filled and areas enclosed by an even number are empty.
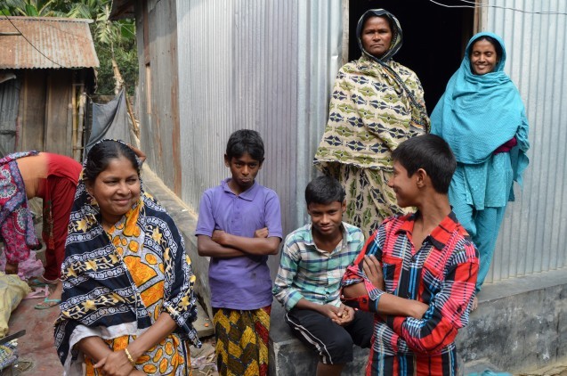
{"type": "Polygon", "coordinates": [[[528,372],[567,356],[567,270],[483,286],[479,307],[459,331],[467,364],[486,359],[504,372],[528,372]]]}

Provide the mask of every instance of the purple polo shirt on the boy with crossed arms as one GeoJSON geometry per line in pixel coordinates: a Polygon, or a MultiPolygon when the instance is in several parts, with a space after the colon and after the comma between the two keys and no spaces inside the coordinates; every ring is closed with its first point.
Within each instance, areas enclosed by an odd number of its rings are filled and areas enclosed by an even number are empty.
{"type": "MultiPolygon", "coordinates": [[[[281,213],[276,192],[255,183],[237,196],[227,184],[229,180],[225,179],[221,185],[203,193],[195,234],[212,236],[213,231],[223,230],[253,238],[256,230],[268,227],[268,237],[281,239],[281,213]]],[[[267,256],[211,257],[208,267],[211,306],[250,310],[271,305],[267,260],[267,256]]]]}

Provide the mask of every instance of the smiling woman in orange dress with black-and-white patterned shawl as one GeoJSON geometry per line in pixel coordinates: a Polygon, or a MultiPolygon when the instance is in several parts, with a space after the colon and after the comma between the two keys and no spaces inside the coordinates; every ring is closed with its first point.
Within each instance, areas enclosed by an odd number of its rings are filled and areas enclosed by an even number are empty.
{"type": "Polygon", "coordinates": [[[66,374],[190,373],[195,276],[174,221],[142,190],[141,163],[113,140],[85,160],[55,325],[66,374]]]}

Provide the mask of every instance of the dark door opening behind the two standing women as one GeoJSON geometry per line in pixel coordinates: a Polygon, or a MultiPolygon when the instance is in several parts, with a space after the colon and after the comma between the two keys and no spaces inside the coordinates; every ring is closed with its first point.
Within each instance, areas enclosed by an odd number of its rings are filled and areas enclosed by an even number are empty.
{"type": "MultiPolygon", "coordinates": [[[[442,3],[463,5],[459,0],[442,3]]],[[[375,8],[383,8],[400,20],[403,45],[393,60],[416,72],[431,114],[463,59],[466,43],[473,37],[474,9],[447,8],[426,0],[349,0],[349,61],[360,58],[356,37],[360,16],[375,8]]]]}

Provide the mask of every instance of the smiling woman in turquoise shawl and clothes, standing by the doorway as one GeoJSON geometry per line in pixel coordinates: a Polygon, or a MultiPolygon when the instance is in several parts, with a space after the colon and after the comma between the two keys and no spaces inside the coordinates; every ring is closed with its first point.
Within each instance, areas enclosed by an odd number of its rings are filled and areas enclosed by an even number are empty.
{"type": "Polygon", "coordinates": [[[500,37],[476,34],[431,116],[431,132],[450,144],[458,161],[449,200],[479,251],[477,293],[490,269],[507,201],[514,200],[513,182],[522,184],[528,166],[528,120],[505,62],[500,37]]]}

